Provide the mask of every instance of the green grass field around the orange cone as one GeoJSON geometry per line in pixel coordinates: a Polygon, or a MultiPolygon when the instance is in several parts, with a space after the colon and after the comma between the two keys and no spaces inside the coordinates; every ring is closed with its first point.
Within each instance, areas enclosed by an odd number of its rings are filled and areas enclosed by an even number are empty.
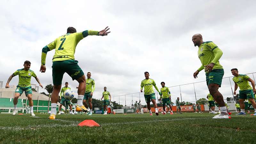
{"type": "MultiPolygon", "coordinates": [[[[251,113],[252,114],[252,113],[251,113]]],[[[213,114],[183,113],[57,115],[0,114],[0,143],[255,143],[256,117],[212,119],[213,114]],[[100,127],[77,127],[92,119],[100,127]]]]}

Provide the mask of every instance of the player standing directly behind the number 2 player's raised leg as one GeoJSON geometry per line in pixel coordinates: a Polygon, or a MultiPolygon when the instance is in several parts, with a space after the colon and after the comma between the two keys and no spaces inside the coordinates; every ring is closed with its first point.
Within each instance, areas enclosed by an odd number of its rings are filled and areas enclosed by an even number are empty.
{"type": "Polygon", "coordinates": [[[85,106],[85,108],[88,109],[88,113],[87,115],[92,116],[92,94],[95,90],[95,82],[94,80],[91,78],[91,72],[87,73],[87,79],[86,79],[86,88],[85,88],[85,93],[84,93],[84,100],[83,100],[83,104],[85,106]],[[86,100],[88,100],[89,103],[89,107],[87,105],[86,100]]]}

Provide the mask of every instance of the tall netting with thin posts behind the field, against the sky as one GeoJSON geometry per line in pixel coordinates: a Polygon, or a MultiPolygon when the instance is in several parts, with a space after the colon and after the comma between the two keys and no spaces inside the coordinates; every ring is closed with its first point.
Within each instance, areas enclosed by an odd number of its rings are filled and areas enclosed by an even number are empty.
{"type": "MultiPolygon", "coordinates": [[[[254,73],[246,74],[251,79],[255,81],[254,73]]],[[[224,77],[222,79],[221,88],[219,89],[220,93],[223,95],[223,98],[225,101],[227,101],[227,98],[231,98],[230,100],[234,100],[234,82],[232,80],[233,76],[230,77],[224,77]]],[[[250,83],[251,84],[251,83],[250,83]]],[[[190,102],[190,103],[196,103],[197,100],[201,98],[206,98],[207,94],[209,93],[206,81],[196,82],[196,83],[189,83],[189,84],[181,84],[181,85],[175,85],[169,87],[171,91],[171,98],[172,102],[175,106],[175,100],[177,97],[180,97],[180,102],[190,102]]],[[[237,93],[239,91],[239,88],[237,89],[237,93]]],[[[156,94],[156,102],[159,103],[158,99],[160,98],[160,95],[155,90],[156,94]]],[[[142,105],[146,105],[145,99],[144,99],[144,93],[143,92],[137,92],[137,93],[130,93],[125,95],[117,95],[112,96],[112,100],[116,101],[117,103],[123,105],[123,106],[132,106],[134,102],[137,100],[141,100],[142,105]]]]}

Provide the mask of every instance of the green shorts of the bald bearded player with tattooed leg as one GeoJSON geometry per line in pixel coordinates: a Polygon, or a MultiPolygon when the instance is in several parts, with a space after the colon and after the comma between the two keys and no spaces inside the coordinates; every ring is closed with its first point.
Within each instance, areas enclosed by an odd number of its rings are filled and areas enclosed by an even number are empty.
{"type": "Polygon", "coordinates": [[[211,72],[205,73],[207,86],[209,84],[219,84],[221,86],[223,75],[223,69],[213,69],[211,72]]]}

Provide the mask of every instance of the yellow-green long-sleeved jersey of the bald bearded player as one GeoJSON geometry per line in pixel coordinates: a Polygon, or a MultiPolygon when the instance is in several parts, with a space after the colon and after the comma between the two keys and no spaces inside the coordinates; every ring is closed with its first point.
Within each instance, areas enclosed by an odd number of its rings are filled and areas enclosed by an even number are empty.
{"type": "Polygon", "coordinates": [[[219,62],[222,54],[223,52],[220,50],[220,48],[212,41],[203,42],[198,47],[198,58],[202,63],[202,66],[198,69],[198,71],[203,70],[204,66],[210,63],[215,64],[212,69],[223,69],[219,62]]]}

